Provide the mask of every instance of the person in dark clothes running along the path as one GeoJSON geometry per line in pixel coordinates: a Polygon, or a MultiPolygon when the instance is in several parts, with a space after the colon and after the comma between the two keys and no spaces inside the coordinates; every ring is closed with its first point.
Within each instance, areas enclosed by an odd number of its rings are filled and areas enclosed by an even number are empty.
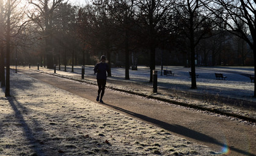
{"type": "Polygon", "coordinates": [[[107,74],[109,74],[109,67],[106,63],[106,57],[102,55],[100,57],[100,63],[97,63],[95,65],[94,73],[97,73],[97,83],[98,83],[98,96],[96,101],[102,101],[102,98],[104,96],[105,87],[106,87],[106,80],[107,80],[107,74]],[[100,94],[101,93],[101,94],[100,94]]]}

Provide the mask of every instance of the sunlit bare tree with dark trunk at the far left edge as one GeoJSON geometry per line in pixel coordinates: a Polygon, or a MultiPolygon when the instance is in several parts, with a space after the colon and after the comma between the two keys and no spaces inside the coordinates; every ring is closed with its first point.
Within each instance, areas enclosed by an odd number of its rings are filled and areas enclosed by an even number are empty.
{"type": "Polygon", "coordinates": [[[24,20],[27,6],[18,0],[0,1],[0,78],[5,96],[10,96],[10,53],[15,46],[29,43],[26,41],[29,20],[24,20]]]}

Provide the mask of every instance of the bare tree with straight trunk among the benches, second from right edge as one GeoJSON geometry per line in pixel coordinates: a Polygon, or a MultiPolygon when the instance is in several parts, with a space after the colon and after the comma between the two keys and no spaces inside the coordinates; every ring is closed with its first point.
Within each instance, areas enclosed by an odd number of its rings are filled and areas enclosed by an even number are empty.
{"type": "MultiPolygon", "coordinates": [[[[177,12],[178,31],[189,39],[191,60],[191,89],[197,89],[196,85],[196,46],[200,40],[213,29],[212,14],[205,10],[199,0],[175,1],[175,12],[177,12]]],[[[209,36],[207,36],[209,37],[209,36]]]]}

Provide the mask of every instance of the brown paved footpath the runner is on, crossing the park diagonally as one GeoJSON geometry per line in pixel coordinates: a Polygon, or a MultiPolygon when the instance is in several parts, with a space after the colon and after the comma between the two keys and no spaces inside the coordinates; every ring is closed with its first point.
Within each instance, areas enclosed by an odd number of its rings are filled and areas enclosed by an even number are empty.
{"type": "MultiPolygon", "coordinates": [[[[20,73],[91,101],[95,101],[97,96],[97,87],[94,85],[27,69],[20,69],[20,73]]],[[[256,155],[255,126],[108,89],[104,102],[103,105],[162,127],[187,140],[209,146],[214,151],[229,155],[256,155]]]]}

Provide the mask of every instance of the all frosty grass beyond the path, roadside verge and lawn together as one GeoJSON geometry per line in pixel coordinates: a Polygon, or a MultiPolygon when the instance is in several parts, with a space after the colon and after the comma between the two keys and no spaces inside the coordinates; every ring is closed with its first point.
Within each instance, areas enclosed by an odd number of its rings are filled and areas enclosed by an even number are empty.
{"type": "MultiPolygon", "coordinates": [[[[37,68],[32,67],[31,69],[37,68]]],[[[191,78],[189,78],[188,73],[190,68],[165,66],[164,69],[172,70],[175,73],[174,76],[161,76],[161,67],[156,66],[156,69],[158,70],[158,94],[152,93],[152,84],[148,83],[150,70],[146,66],[139,66],[137,71],[130,70],[130,80],[124,79],[124,68],[112,68],[112,77],[108,77],[107,86],[256,119],[255,108],[239,107],[243,105],[244,101],[256,103],[256,98],[252,98],[254,83],[251,83],[249,79],[249,74],[254,75],[253,67],[197,67],[196,74],[199,74],[199,78],[196,79],[197,90],[190,89],[191,78]],[[214,73],[222,73],[227,78],[226,80],[216,80],[214,73]],[[191,93],[201,94],[203,98],[191,97],[191,93]],[[219,100],[220,97],[238,99],[238,101],[236,104],[226,105],[219,100]],[[235,107],[235,105],[238,107],[235,107]]],[[[70,66],[67,66],[67,72],[63,70],[64,66],[62,66],[61,71],[57,70],[56,73],[81,80],[81,66],[75,66],[74,73],[70,72],[70,66]]],[[[40,71],[53,73],[53,69],[40,68],[40,71]]],[[[85,78],[85,82],[96,84],[93,66],[86,66],[85,78]]]]}

